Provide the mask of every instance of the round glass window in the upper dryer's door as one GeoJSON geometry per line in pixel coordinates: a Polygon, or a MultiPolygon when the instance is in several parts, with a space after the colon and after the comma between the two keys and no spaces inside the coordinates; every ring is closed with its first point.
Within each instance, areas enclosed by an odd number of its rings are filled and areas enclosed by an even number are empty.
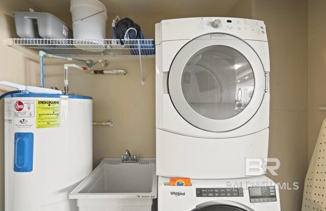
{"type": "Polygon", "coordinates": [[[203,117],[229,119],[246,108],[254,92],[248,60],[227,46],[208,46],[187,61],[181,90],[189,106],[203,117]]]}

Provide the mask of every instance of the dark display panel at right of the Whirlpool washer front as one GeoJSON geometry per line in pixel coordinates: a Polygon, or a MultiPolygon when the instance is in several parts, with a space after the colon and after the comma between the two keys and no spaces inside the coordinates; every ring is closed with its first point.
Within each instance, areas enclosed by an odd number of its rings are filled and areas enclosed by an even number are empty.
{"type": "Polygon", "coordinates": [[[251,203],[277,201],[275,186],[249,187],[249,198],[251,203]]]}

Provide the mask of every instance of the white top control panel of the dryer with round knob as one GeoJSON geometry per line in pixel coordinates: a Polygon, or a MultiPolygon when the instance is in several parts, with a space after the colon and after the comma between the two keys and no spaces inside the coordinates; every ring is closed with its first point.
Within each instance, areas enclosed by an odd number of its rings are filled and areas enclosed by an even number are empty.
{"type": "Polygon", "coordinates": [[[162,20],[156,24],[155,43],[193,40],[209,33],[226,33],[242,40],[267,42],[266,26],[263,21],[244,18],[202,17],[162,20]]]}

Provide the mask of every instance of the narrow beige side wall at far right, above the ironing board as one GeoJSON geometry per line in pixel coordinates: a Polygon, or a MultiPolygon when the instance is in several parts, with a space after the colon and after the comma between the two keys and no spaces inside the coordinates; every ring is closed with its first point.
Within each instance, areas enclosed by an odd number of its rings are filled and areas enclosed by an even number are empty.
{"type": "Polygon", "coordinates": [[[309,108],[309,161],[312,157],[321,123],[326,112],[319,111],[326,105],[326,2],[309,0],[308,22],[308,108],[309,108]]]}

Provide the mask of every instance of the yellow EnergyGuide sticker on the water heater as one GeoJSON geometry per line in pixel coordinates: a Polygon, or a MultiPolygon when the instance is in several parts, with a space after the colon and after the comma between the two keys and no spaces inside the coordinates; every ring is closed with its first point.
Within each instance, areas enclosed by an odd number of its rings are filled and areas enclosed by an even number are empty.
{"type": "Polygon", "coordinates": [[[36,128],[60,127],[60,100],[36,100],[36,128]]]}

